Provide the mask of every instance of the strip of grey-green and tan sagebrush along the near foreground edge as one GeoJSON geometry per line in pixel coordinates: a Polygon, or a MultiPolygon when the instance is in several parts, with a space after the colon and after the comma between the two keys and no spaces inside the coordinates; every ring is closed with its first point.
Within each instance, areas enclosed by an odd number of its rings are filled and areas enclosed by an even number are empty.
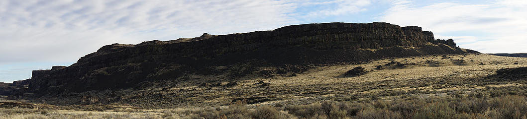
{"type": "Polygon", "coordinates": [[[239,101],[226,108],[115,111],[0,109],[0,118],[526,118],[527,97],[505,95],[479,99],[408,98],[369,103],[333,102],[249,109],[239,101]]]}

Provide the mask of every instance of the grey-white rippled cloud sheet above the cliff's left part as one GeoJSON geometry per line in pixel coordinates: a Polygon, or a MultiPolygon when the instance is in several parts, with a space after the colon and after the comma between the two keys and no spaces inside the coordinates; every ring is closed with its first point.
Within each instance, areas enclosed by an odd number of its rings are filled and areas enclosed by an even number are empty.
{"type": "Polygon", "coordinates": [[[284,1],[0,2],[0,62],[72,61],[115,42],[269,30],[294,22],[284,1]]]}

